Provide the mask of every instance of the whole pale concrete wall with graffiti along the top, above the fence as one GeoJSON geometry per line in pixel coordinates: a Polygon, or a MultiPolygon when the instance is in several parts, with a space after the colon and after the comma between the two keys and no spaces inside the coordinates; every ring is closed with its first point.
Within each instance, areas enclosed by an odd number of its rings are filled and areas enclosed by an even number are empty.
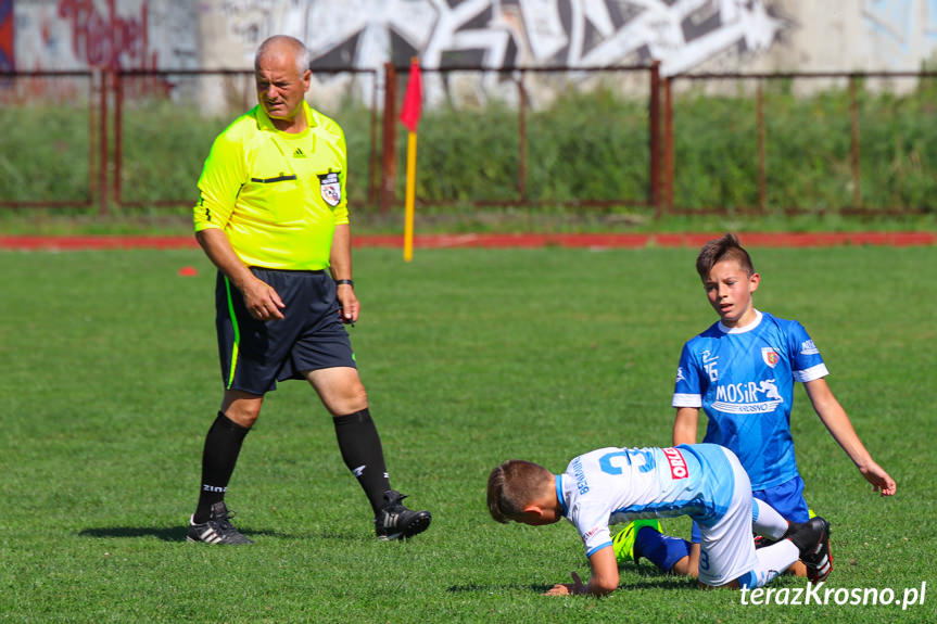
{"type": "Polygon", "coordinates": [[[937,0],[0,0],[0,67],[249,68],[273,34],[319,66],[916,69],[937,0]]]}

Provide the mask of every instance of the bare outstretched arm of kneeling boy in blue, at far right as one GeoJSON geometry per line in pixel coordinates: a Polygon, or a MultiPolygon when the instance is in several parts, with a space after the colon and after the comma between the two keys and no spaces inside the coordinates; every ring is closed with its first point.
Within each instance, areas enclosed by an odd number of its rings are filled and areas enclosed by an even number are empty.
{"type": "Polygon", "coordinates": [[[849,416],[836,397],[830,385],[823,378],[814,379],[813,381],[805,382],[803,387],[807,390],[807,396],[810,397],[810,403],[813,404],[813,409],[826,425],[833,440],[836,441],[865,481],[871,483],[876,492],[881,492],[882,496],[891,496],[897,489],[895,480],[885,472],[885,470],[875,463],[872,456],[863,446],[862,441],[852,428],[852,422],[849,416]]]}

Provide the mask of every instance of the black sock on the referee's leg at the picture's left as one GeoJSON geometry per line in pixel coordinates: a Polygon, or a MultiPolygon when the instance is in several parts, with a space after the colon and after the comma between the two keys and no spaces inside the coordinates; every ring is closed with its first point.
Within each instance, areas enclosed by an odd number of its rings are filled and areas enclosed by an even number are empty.
{"type": "Polygon", "coordinates": [[[251,431],[241,426],[227,416],[218,412],[215,422],[205,436],[205,448],[202,450],[202,491],[199,494],[199,506],[195,508],[194,522],[208,520],[212,505],[225,499],[228,481],[235,472],[241,443],[251,431]]]}

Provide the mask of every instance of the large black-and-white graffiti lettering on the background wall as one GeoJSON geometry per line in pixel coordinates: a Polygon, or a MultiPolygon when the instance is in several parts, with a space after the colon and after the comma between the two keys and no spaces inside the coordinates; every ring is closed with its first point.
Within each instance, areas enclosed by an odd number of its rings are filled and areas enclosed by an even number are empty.
{"type": "MultiPolygon", "coordinates": [[[[304,40],[321,66],[603,66],[661,61],[664,74],[731,54],[742,63],[786,27],[761,0],[220,0],[228,44],[205,61],[248,63],[267,35],[304,40]],[[227,50],[227,53],[225,53],[227,50]],[[236,58],[235,58],[236,59],[236,58]]],[[[789,26],[789,25],[787,25],[789,26]]]]}

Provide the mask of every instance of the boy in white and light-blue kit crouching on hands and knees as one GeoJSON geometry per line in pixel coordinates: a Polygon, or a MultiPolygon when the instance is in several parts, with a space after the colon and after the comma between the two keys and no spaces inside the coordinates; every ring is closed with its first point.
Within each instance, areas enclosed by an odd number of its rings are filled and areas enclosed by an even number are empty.
{"type": "Polygon", "coordinates": [[[562,474],[509,460],[489,475],[488,506],[503,523],[537,526],[566,518],[577,527],[592,575],[582,583],[573,572],[573,583],[555,585],[549,596],[603,596],[618,587],[609,532],[617,523],[693,518],[701,534],[699,582],[709,587],[761,587],[798,558],[824,559],[828,543],[830,525],[822,518],[792,524],[752,499],[738,459],[714,444],[599,448],[573,458],[562,474]],[[752,527],[777,542],[756,551],[752,527]]]}

